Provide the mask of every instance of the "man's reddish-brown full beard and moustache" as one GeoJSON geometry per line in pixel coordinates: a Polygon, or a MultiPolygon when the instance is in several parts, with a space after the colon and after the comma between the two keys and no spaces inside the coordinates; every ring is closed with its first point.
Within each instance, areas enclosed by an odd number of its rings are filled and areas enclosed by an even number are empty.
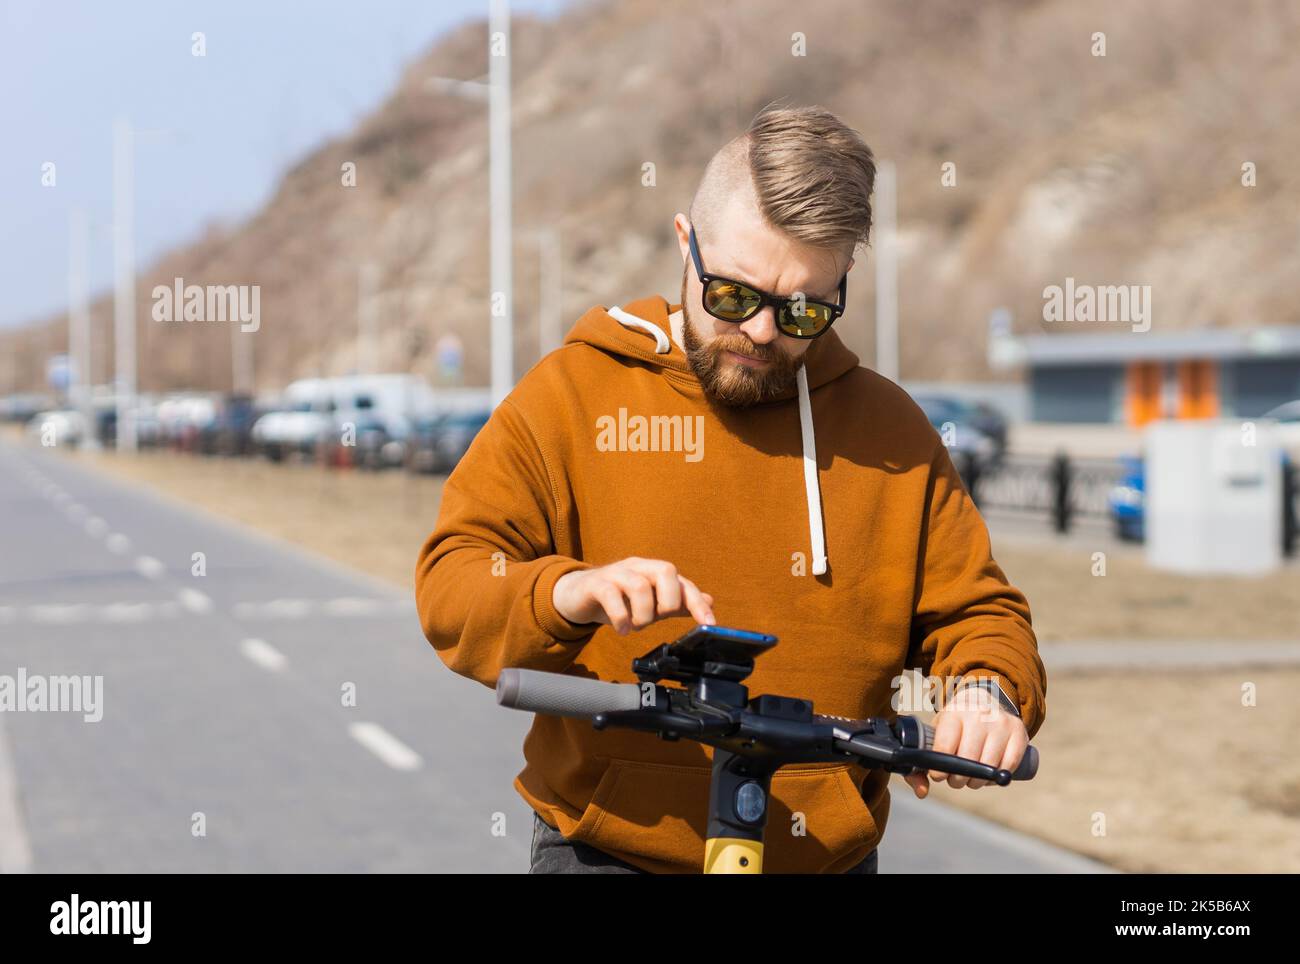
{"type": "MultiPolygon", "coordinates": [[[[776,343],[754,344],[737,327],[734,334],[714,335],[705,342],[696,330],[686,304],[686,275],[681,278],[681,340],[686,364],[699,379],[699,386],[711,400],[733,408],[748,408],[762,401],[771,401],[794,387],[803,356],[792,357],[776,343]],[[762,359],[763,368],[748,368],[731,361],[727,352],[733,351],[762,359]]],[[[708,316],[712,317],[712,316],[708,316]]]]}

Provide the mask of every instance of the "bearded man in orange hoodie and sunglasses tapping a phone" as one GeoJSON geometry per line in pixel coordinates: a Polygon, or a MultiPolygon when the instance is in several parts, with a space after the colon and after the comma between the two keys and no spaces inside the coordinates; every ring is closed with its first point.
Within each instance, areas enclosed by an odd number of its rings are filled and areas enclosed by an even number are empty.
{"type": "MultiPolygon", "coordinates": [[[[1014,769],[1045,713],[1024,596],[919,407],[831,325],[875,164],[819,108],[771,109],[677,214],[680,304],[592,308],[447,479],[416,592],[455,670],[634,679],[693,624],[771,633],[753,694],[890,713],[905,666],[961,677],[935,748],[1014,769]]],[[[533,870],[698,873],[711,751],[537,716],[516,790],[533,870]]],[[[907,777],[979,787],[936,772],[907,777]]],[[[783,768],[764,870],[871,873],[888,773],[783,768]]]]}

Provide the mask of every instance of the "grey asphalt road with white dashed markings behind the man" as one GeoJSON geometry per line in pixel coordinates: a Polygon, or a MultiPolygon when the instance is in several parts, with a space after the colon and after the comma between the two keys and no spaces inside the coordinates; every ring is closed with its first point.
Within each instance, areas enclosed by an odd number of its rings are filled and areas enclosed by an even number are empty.
{"type": "MultiPolygon", "coordinates": [[[[0,869],[526,870],[529,717],[442,665],[407,594],[0,443],[0,676],[20,668],[91,683],[81,712],[0,712],[0,869]]],[[[883,873],[1100,869],[893,798],[883,873]]]]}

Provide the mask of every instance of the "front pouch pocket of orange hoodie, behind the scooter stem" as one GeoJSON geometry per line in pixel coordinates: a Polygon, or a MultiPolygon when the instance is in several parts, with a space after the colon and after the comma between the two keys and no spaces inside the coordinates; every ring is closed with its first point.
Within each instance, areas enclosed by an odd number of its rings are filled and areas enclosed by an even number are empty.
{"type": "MultiPolygon", "coordinates": [[[[660,873],[699,873],[710,777],[706,767],[610,760],[569,839],[660,873]]],[[[848,765],[776,772],[766,873],[848,869],[879,843],[875,817],[854,777],[848,765]]]]}

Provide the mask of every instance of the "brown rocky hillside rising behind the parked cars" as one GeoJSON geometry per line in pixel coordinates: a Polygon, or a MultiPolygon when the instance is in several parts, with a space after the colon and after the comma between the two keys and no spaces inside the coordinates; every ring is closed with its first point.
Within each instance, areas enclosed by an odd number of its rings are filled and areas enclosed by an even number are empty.
{"type": "MultiPolygon", "coordinates": [[[[1150,285],[1153,330],[1300,323],[1297,48],[1300,4],[1284,0],[618,0],[520,19],[517,368],[538,357],[538,230],[559,238],[566,327],[592,304],[675,298],[672,216],[710,153],[777,99],[831,108],[897,164],[906,378],[987,377],[991,309],[1043,329],[1043,288],[1067,275],[1150,285]],[[796,32],[807,56],[792,56],[796,32]]],[[[150,265],[142,387],[230,382],[229,327],[151,321],[155,285],[260,285],[250,336],[266,390],[358,364],[367,270],[380,368],[437,381],[434,342],[456,333],[464,381],[485,383],[486,110],[428,79],[486,69],[485,22],[445,36],[356,131],[286,171],[260,213],[150,265]],[[355,187],[341,178],[350,161],[355,187]]],[[[841,322],[867,364],[872,262],[859,256],[841,322]]],[[[98,381],[110,316],[104,292],[98,381]]],[[[65,331],[47,318],[0,344],[38,382],[65,331]]]]}

